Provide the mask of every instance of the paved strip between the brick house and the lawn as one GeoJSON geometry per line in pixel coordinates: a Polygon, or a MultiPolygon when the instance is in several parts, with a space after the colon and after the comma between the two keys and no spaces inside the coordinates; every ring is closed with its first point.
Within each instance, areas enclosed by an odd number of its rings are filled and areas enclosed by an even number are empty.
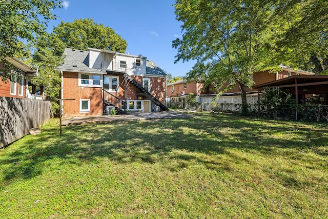
{"type": "Polygon", "coordinates": [[[195,118],[198,116],[169,111],[169,112],[148,112],[148,113],[131,113],[127,115],[101,115],[101,116],[80,116],[65,118],[61,124],[63,126],[92,124],[92,123],[113,123],[122,120],[157,120],[161,118],[195,118]]]}

